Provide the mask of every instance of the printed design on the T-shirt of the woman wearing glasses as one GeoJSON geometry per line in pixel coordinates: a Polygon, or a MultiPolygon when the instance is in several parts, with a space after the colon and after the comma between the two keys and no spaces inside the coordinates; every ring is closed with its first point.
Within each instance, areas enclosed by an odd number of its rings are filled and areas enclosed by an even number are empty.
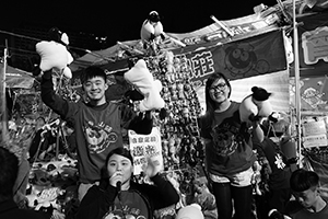
{"type": "Polygon", "coordinates": [[[239,146],[243,146],[244,137],[239,131],[239,124],[234,122],[232,117],[224,119],[212,129],[211,136],[219,155],[231,155],[239,146]]]}

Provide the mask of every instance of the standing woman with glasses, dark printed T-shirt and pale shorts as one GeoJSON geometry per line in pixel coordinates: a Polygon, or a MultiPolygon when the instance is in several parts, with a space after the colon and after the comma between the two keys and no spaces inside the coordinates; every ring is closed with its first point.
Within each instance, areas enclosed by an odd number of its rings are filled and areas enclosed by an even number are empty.
{"type": "Polygon", "coordinates": [[[251,175],[256,160],[251,137],[262,141],[257,123],[243,128],[239,103],[231,101],[232,87],[224,74],[214,72],[206,83],[206,114],[199,118],[206,148],[206,168],[215,196],[220,219],[251,217],[251,175]],[[234,205],[233,205],[234,204],[234,205]]]}

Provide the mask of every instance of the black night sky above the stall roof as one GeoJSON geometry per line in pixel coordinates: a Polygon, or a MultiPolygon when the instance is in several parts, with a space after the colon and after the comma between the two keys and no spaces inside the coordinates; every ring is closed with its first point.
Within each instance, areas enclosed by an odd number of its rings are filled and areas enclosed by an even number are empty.
{"type": "Polygon", "coordinates": [[[115,44],[117,41],[140,38],[141,24],[153,10],[162,16],[165,32],[188,33],[213,23],[210,15],[224,21],[249,15],[253,13],[253,8],[260,3],[268,7],[277,4],[276,0],[37,2],[14,0],[2,2],[0,28],[10,30],[26,23],[46,25],[49,28],[58,26],[63,32],[70,28],[106,35],[115,44]]]}

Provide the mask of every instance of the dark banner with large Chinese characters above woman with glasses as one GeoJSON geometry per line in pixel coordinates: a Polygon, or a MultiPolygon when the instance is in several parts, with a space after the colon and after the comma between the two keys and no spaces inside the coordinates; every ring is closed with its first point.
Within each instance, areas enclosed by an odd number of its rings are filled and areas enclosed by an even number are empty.
{"type": "Polygon", "coordinates": [[[195,88],[203,85],[209,74],[222,72],[231,80],[278,72],[286,69],[283,31],[176,54],[188,59],[195,88]]]}

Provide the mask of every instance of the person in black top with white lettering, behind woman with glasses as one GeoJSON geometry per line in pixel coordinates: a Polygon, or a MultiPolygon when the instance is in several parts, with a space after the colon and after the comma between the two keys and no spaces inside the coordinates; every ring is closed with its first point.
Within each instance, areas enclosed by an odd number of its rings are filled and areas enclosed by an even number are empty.
{"type": "MultiPolygon", "coordinates": [[[[267,175],[263,174],[263,180],[267,181],[269,191],[261,196],[256,196],[258,215],[266,218],[271,209],[277,209],[279,212],[285,212],[285,206],[291,199],[290,177],[292,174],[291,165],[288,158],[283,154],[280,148],[281,137],[284,135],[289,123],[280,119],[271,125],[271,122],[266,120],[262,129],[265,139],[262,142],[254,142],[253,148],[257,150],[259,159],[266,159],[269,166],[267,175]]],[[[262,171],[265,173],[265,170],[262,171]]]]}

